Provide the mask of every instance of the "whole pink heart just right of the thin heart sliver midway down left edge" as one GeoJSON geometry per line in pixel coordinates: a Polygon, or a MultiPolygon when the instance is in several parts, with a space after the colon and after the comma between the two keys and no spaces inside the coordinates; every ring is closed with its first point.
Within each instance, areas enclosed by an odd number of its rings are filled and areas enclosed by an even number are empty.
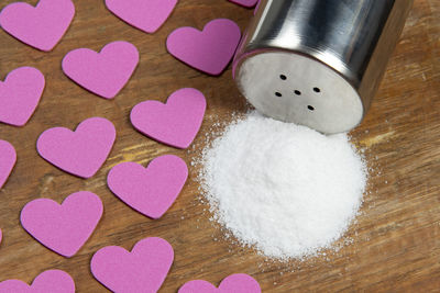
{"type": "Polygon", "coordinates": [[[43,132],[36,142],[40,156],[72,174],[92,177],[110,154],[116,139],[113,124],[107,119],[82,121],[75,132],[64,127],[43,132]]]}

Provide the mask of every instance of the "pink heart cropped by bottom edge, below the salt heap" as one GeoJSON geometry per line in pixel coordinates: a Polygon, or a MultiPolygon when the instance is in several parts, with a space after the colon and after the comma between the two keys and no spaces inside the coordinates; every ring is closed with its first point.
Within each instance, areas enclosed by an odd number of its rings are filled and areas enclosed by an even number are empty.
{"type": "Polygon", "coordinates": [[[178,293],[261,293],[258,282],[245,273],[235,273],[221,281],[217,289],[204,280],[195,280],[185,283],[178,293]]]}

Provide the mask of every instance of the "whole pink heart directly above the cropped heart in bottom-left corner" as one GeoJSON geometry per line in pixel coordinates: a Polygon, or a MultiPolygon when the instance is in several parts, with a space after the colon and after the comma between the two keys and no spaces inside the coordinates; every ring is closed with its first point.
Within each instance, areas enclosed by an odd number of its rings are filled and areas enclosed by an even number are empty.
{"type": "Polygon", "coordinates": [[[73,257],[94,233],[102,216],[98,195],[80,191],[66,198],[63,204],[50,199],[29,202],[22,210],[23,228],[48,249],[73,257]]]}

